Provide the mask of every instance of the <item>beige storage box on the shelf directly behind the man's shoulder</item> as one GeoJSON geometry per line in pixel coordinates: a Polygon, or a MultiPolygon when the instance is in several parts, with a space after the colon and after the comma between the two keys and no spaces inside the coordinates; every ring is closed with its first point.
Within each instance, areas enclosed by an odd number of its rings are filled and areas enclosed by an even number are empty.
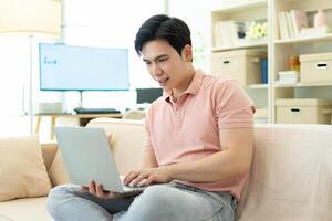
{"type": "Polygon", "coordinates": [[[237,50],[215,52],[211,54],[211,74],[230,75],[242,86],[261,84],[260,60],[267,57],[266,52],[237,50]]]}

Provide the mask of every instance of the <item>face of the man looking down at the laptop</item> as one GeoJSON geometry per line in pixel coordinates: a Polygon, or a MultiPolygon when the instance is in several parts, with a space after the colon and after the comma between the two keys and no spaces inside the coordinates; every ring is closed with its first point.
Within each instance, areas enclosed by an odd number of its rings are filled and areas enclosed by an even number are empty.
{"type": "MultiPolygon", "coordinates": [[[[189,45],[187,46],[190,48],[189,45]]],[[[186,48],[184,51],[186,51],[186,48]]],[[[184,52],[183,55],[179,55],[164,40],[154,40],[145,43],[142,48],[142,54],[148,73],[166,92],[180,88],[186,77],[191,54],[190,57],[185,55],[186,53],[184,52]]]]}

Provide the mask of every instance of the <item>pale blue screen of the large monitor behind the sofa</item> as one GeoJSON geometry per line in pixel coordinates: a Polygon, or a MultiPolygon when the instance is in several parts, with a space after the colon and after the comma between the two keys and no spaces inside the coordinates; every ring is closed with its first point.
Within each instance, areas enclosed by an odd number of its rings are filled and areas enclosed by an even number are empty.
{"type": "Polygon", "coordinates": [[[128,50],[39,44],[41,91],[125,91],[128,50]]]}

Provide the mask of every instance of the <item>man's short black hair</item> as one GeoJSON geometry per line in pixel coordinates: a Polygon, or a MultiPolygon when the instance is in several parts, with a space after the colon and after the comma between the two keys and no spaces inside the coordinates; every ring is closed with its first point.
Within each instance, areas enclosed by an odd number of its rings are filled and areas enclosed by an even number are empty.
{"type": "Polygon", "coordinates": [[[135,39],[137,54],[141,55],[143,45],[153,40],[167,41],[179,55],[186,44],[191,45],[188,25],[183,20],[166,14],[153,15],[142,24],[135,39]]]}

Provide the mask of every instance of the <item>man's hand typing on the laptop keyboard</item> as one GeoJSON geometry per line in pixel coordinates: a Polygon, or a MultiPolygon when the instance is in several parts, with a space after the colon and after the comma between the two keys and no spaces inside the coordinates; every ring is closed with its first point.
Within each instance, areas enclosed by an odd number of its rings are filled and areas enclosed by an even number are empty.
{"type": "Polygon", "coordinates": [[[172,181],[169,167],[157,167],[142,170],[133,170],[124,178],[124,185],[132,187],[145,187],[152,183],[166,183],[172,181]]]}

